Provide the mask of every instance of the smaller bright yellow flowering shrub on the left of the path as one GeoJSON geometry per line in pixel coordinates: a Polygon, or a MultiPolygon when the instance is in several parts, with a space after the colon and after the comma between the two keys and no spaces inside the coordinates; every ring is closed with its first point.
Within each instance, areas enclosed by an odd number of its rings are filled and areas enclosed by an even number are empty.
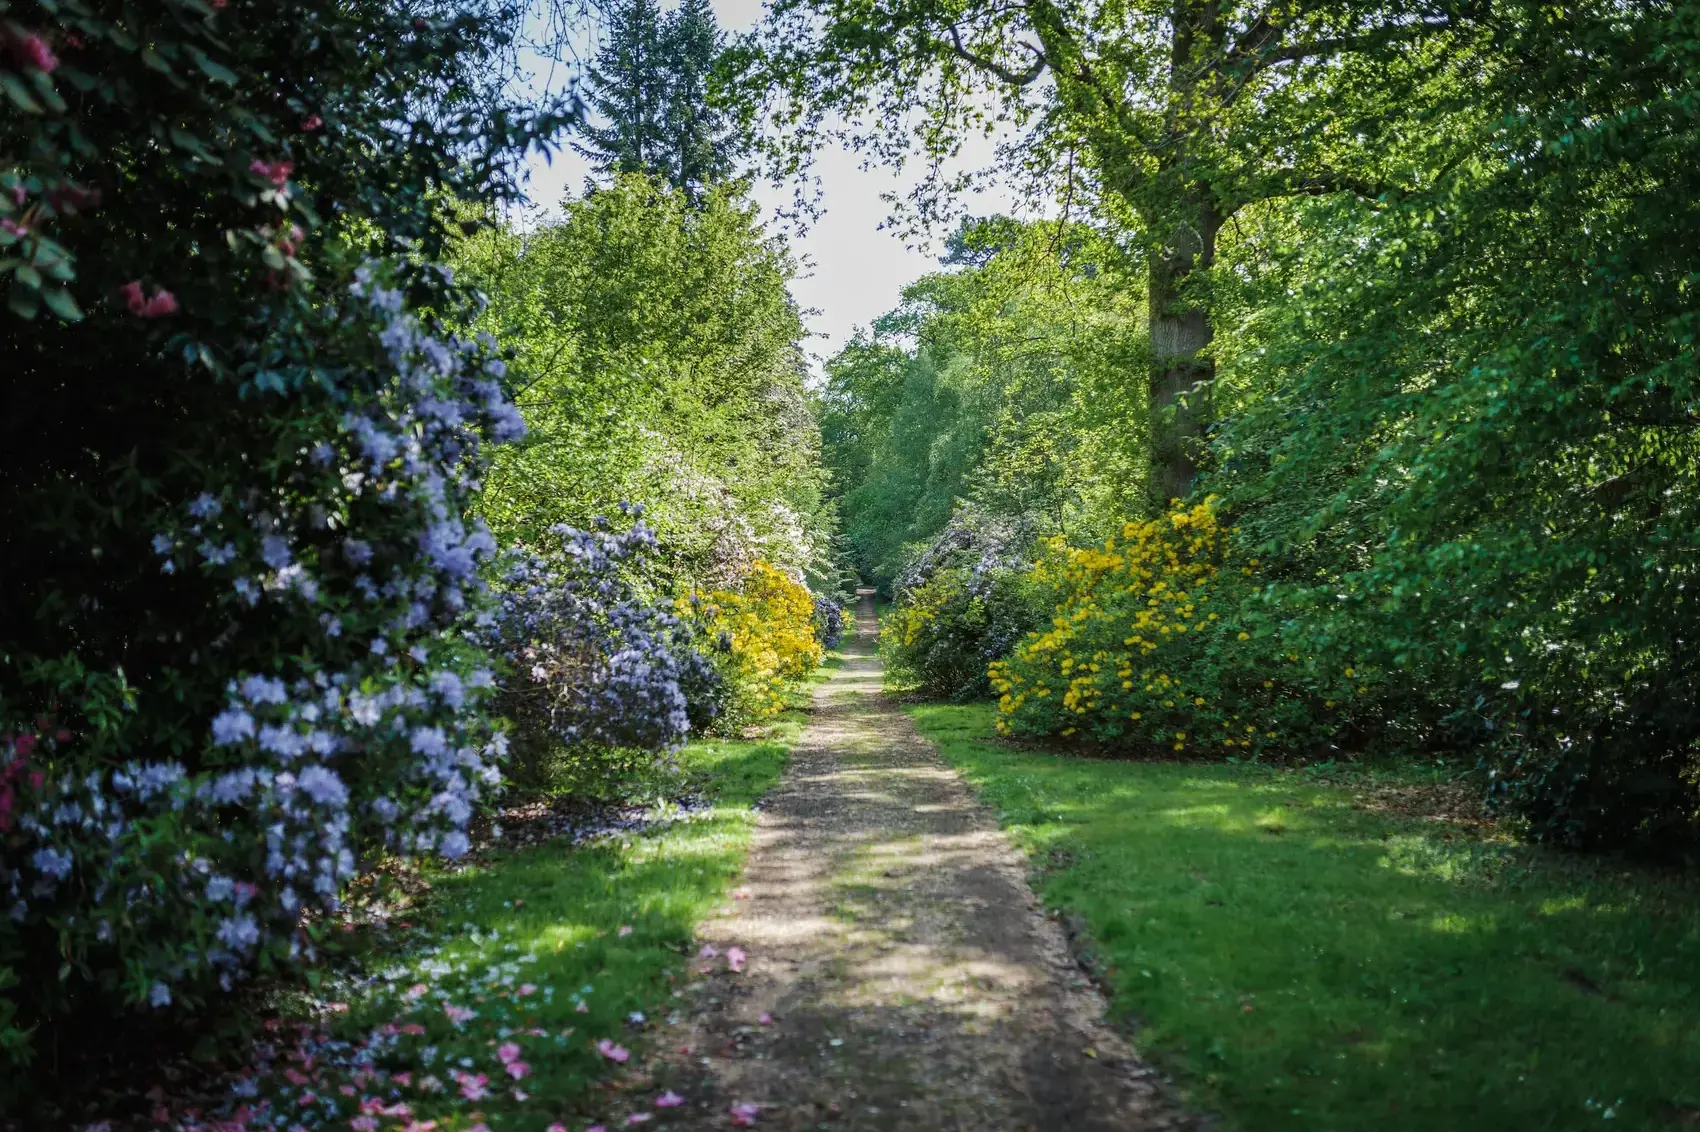
{"type": "Polygon", "coordinates": [[[738,590],[680,598],[680,615],[719,646],[728,682],[722,722],[768,719],[785,693],[814,671],[823,656],[814,629],[814,595],[768,563],[755,563],[738,590]]]}

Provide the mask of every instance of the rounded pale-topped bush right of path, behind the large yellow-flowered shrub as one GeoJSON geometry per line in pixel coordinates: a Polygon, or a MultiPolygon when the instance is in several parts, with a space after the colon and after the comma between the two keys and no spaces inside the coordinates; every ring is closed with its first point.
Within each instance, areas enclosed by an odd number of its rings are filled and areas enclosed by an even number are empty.
{"type": "Polygon", "coordinates": [[[879,634],[896,683],[981,699],[988,665],[1042,620],[1027,578],[1030,524],[960,512],[899,573],[879,634]]]}

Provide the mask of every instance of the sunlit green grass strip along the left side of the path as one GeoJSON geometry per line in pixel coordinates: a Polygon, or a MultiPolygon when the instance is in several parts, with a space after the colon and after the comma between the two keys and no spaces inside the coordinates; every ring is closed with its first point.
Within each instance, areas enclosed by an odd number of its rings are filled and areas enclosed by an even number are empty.
{"type": "Polygon", "coordinates": [[[592,1120],[612,1127],[626,1112],[646,1108],[661,1084],[615,1100],[598,1088],[615,1066],[595,1044],[612,1039],[636,1057],[648,1025],[634,1023],[632,1011],[653,1023],[678,1005],[672,988],[688,962],[699,962],[695,926],[740,875],[753,802],[779,778],[801,724],[790,712],[762,739],[687,746],[680,761],[692,789],[712,799],[706,814],[578,848],[542,843],[430,875],[432,889],[411,914],[415,931],[355,962],[354,984],[325,988],[347,1006],[335,1008],[343,1011],[335,1030],[345,1039],[366,1042],[386,1023],[423,1027],[423,1033],[403,1030],[377,1057],[388,1073],[411,1079],[386,1088],[381,1078],[374,1086],[348,1076],[357,1064],[325,1059],[306,1086],[318,1108],[299,1098],[299,1088],[284,1088],[272,1101],[348,1127],[354,1100],[338,1098],[340,1083],[352,1079],[360,1095],[406,1101],[415,1117],[435,1118],[445,1132],[479,1124],[491,1132],[542,1132],[556,1120],[576,1132],[592,1120]],[[620,935],[622,926],[631,930],[620,935]],[[445,1003],[476,1013],[454,1022],[445,1003]],[[505,1076],[502,1042],[520,1047],[530,1071],[522,1081],[505,1076]],[[491,1095],[464,1100],[456,1073],[484,1074],[491,1095]],[[422,1088],[425,1078],[442,1088],[422,1088]],[[527,1096],[517,1098],[515,1088],[527,1096]],[[348,1112],[328,1113],[326,1103],[348,1112]]]}

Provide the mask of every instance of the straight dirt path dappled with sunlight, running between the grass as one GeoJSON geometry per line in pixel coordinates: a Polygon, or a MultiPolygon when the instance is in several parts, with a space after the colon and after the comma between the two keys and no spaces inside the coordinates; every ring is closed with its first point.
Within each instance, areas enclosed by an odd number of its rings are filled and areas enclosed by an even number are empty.
{"type": "Polygon", "coordinates": [[[1025,882],[1025,862],[881,695],[872,597],[702,928],[658,1076],[663,1127],[1178,1129],[1025,882]],[[748,954],[726,971],[729,948],[748,954]],[[767,1022],[763,1022],[767,1018],[767,1022]],[[688,1054],[685,1052],[688,1049],[688,1054]]]}

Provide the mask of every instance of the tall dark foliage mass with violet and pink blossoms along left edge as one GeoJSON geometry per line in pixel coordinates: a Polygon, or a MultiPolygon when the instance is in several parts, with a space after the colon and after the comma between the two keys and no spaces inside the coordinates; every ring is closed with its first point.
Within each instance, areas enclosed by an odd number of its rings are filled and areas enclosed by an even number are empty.
{"type": "Polygon", "coordinates": [[[491,90],[507,15],[0,2],[12,1061],[309,957],[374,853],[466,845],[502,738],[462,517],[522,427],[410,311],[471,318],[440,204],[510,197],[558,121],[491,90]]]}

